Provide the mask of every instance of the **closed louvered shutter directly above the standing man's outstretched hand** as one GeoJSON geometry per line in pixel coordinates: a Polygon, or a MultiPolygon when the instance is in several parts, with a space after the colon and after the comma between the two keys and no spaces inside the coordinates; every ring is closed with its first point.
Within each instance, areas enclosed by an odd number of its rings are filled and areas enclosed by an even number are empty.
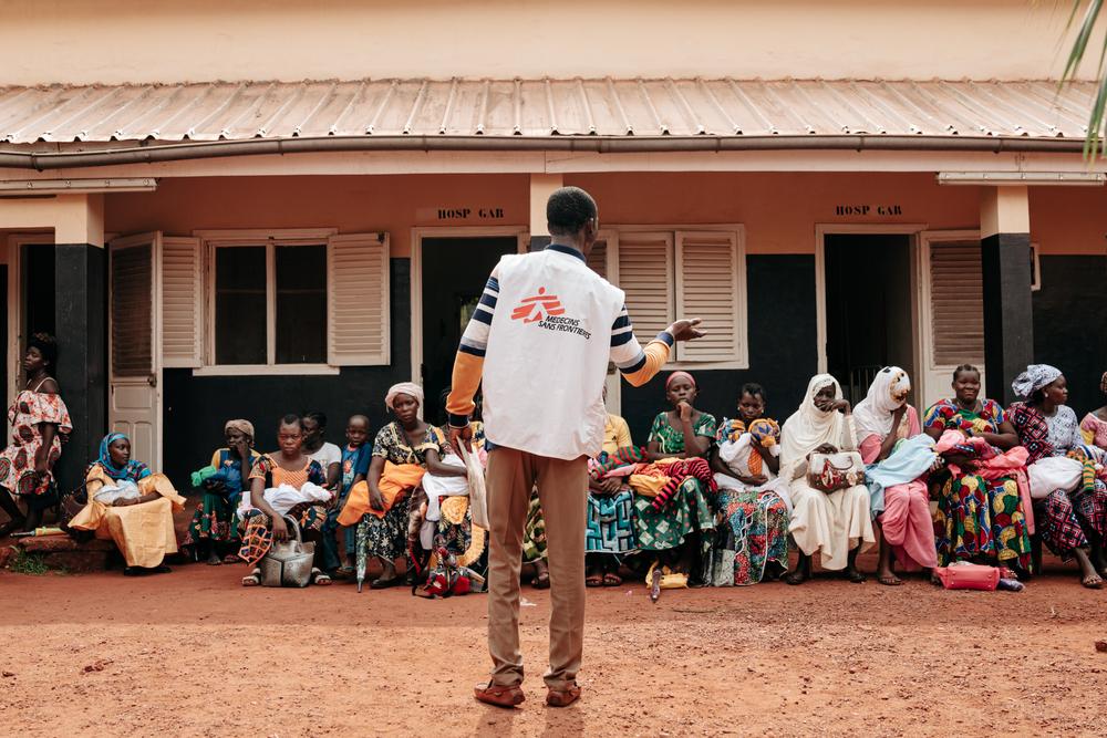
{"type": "Polygon", "coordinates": [[[735,231],[676,232],[676,315],[703,319],[707,334],[679,344],[680,361],[733,362],[743,357],[741,273],[735,231]]]}

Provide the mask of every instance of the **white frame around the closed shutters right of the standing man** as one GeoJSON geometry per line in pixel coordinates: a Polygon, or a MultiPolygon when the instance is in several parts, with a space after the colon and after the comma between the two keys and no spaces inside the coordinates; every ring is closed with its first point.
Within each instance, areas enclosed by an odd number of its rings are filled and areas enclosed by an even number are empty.
{"type": "MultiPolygon", "coordinates": [[[[675,239],[679,232],[695,233],[697,231],[733,231],[737,245],[737,313],[735,314],[735,329],[738,332],[738,353],[731,361],[677,361],[676,352],[670,353],[670,362],[665,364],[666,370],[747,370],[749,368],[749,320],[748,320],[748,288],[746,285],[746,227],[743,224],[661,224],[661,225],[638,225],[638,224],[603,224],[598,233],[599,239],[607,240],[608,243],[608,279],[613,284],[619,283],[619,249],[621,233],[666,231],[673,236],[673,253],[671,254],[671,272],[669,274],[673,287],[673,311],[677,319],[695,318],[695,315],[681,315],[680,305],[676,304],[676,280],[680,270],[676,269],[675,239]],[[614,248],[612,248],[612,246],[614,248]]],[[[631,321],[634,320],[634,311],[630,311],[631,321]]],[[[705,325],[704,330],[710,331],[711,326],[705,325]]],[[[640,335],[640,341],[650,341],[653,336],[640,335]]]]}

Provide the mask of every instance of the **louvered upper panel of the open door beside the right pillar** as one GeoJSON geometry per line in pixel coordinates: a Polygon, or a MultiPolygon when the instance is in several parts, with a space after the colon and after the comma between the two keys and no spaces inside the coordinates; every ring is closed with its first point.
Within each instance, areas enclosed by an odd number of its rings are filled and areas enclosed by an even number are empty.
{"type": "Polygon", "coordinates": [[[980,241],[930,246],[933,363],[984,363],[984,287],[980,241]]]}

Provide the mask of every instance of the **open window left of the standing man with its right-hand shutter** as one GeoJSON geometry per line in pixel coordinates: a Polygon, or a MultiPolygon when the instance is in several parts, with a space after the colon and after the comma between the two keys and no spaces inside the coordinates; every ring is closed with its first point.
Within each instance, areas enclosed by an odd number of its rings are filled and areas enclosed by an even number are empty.
{"type": "MultiPolygon", "coordinates": [[[[200,373],[334,373],[390,362],[386,235],[303,229],[198,236],[208,285],[200,373]]],[[[170,282],[184,281],[184,267],[177,271],[173,280],[166,272],[166,299],[170,282]]],[[[189,339],[186,318],[174,323],[182,346],[189,339]]]]}

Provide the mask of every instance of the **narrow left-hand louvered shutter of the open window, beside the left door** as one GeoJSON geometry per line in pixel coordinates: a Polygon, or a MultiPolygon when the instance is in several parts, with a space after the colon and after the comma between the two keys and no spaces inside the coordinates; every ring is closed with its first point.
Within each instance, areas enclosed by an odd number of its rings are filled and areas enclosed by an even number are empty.
{"type": "Polygon", "coordinates": [[[162,237],[162,364],[203,366],[200,239],[162,237]]]}

